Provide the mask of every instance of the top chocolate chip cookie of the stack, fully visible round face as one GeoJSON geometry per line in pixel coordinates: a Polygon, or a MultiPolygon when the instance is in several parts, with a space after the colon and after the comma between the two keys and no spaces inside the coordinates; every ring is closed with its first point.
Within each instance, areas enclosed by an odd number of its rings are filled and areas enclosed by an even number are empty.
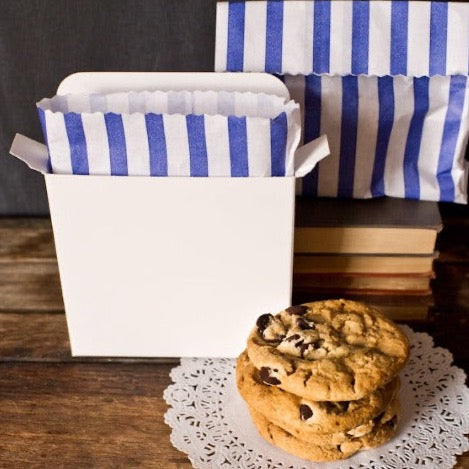
{"type": "Polygon", "coordinates": [[[391,381],[407,361],[409,342],[375,309],[326,300],[263,314],[247,352],[265,384],[313,401],[349,401],[391,381]]]}

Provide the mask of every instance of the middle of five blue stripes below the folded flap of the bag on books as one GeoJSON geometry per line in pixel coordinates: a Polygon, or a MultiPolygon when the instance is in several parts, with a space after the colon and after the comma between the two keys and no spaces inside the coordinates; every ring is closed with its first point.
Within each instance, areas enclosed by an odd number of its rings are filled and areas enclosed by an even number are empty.
{"type": "Polygon", "coordinates": [[[373,197],[381,197],[385,194],[384,169],[394,123],[394,80],[390,76],[378,77],[378,103],[378,134],[371,175],[371,195],[373,197]]]}

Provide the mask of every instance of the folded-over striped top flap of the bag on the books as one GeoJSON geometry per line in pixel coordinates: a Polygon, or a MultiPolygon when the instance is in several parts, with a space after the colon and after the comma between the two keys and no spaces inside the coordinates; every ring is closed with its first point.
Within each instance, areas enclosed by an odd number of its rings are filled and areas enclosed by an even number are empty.
{"type": "Polygon", "coordinates": [[[468,75],[469,3],[219,3],[215,70],[282,75],[468,75]]]}

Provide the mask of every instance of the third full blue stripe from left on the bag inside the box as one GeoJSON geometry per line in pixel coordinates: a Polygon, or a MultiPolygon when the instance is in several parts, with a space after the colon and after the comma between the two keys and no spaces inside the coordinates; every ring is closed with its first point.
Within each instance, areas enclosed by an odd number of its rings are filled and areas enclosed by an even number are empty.
{"type": "Polygon", "coordinates": [[[146,114],[145,125],[148,136],[150,153],[150,175],[168,175],[168,154],[164,133],[163,116],[161,114],[146,114]]]}

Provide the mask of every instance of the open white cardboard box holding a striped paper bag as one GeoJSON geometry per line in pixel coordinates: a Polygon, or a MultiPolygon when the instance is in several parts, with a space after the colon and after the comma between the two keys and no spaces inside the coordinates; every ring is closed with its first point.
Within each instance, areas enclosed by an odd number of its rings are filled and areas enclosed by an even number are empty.
{"type": "MultiPolygon", "coordinates": [[[[154,89],[288,97],[254,73],[79,73],[57,94],[154,89]]],[[[294,177],[45,180],[72,355],[236,356],[290,304],[294,177]]]]}

